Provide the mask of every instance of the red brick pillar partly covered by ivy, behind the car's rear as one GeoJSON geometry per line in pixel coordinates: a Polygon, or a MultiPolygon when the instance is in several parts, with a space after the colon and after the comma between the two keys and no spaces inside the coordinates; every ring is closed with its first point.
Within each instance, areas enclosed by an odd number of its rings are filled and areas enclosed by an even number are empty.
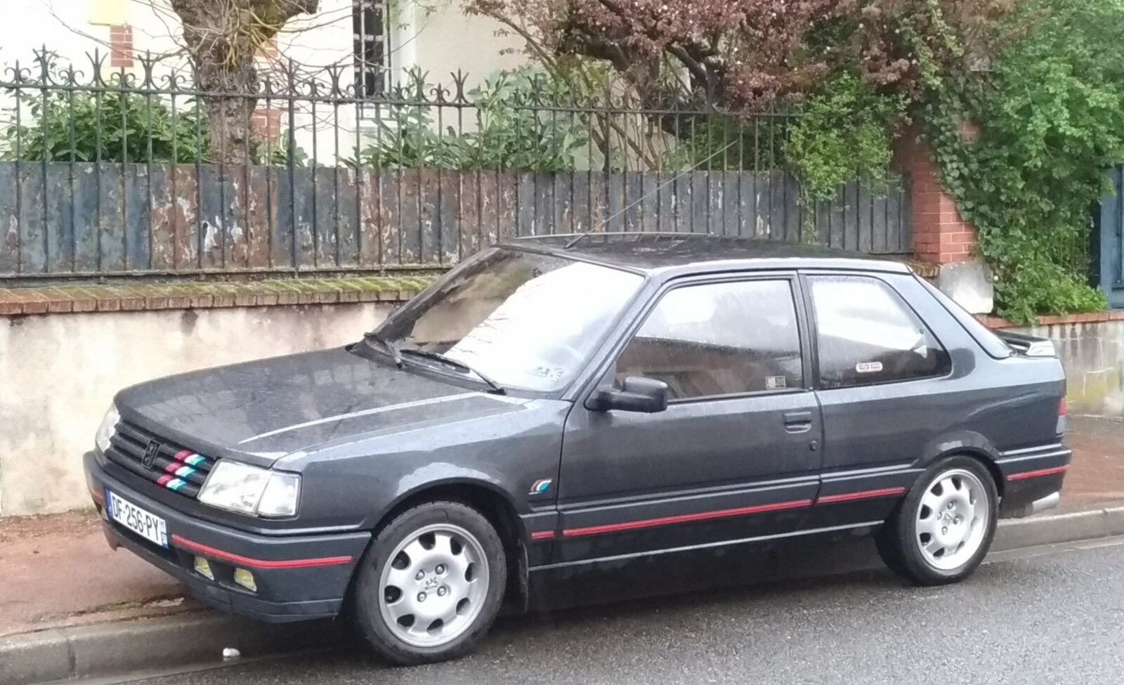
{"type": "MultiPolygon", "coordinates": [[[[975,136],[969,125],[962,128],[975,136]]],[[[910,183],[909,219],[913,229],[914,258],[934,264],[969,261],[976,247],[976,228],[960,217],[955,202],[941,188],[936,164],[928,145],[908,132],[898,148],[898,166],[910,183]]]]}

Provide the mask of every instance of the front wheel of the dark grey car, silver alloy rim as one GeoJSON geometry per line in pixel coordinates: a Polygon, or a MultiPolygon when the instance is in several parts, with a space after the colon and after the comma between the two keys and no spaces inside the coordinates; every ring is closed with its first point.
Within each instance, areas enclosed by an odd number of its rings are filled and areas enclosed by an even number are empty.
{"type": "Polygon", "coordinates": [[[457,502],[429,502],[397,516],[371,543],[352,609],[380,657],[430,664],[475,647],[506,586],[504,543],[488,519],[457,502]]]}

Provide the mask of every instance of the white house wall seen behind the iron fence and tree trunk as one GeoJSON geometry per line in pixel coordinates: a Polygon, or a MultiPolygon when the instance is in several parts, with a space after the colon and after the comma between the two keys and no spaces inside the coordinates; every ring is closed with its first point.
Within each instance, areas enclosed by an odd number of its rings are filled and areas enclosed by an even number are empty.
{"type": "MultiPolygon", "coordinates": [[[[451,85],[451,74],[461,70],[469,76],[469,90],[496,71],[525,62],[518,37],[499,35],[501,26],[492,19],[465,16],[462,0],[425,8],[407,1],[391,10],[390,63],[397,76],[416,67],[430,81],[451,85]]],[[[35,51],[46,45],[56,53],[60,65],[69,63],[81,72],[83,83],[92,78],[90,55],[100,52],[106,56],[103,74],[108,76],[120,71],[109,65],[111,25],[133,28],[137,57],[146,51],[160,57],[154,70],[157,85],[166,87],[169,75],[179,70],[181,87],[190,88],[189,62],[178,42],[179,20],[167,0],[25,0],[11,19],[0,22],[0,70],[17,61],[20,66],[33,66],[35,51]]],[[[297,64],[302,79],[315,79],[325,98],[332,90],[329,70],[334,67],[341,89],[350,94],[354,79],[352,30],[351,0],[320,0],[316,16],[293,19],[278,36],[279,56],[297,64]]],[[[263,78],[273,79],[274,90],[280,90],[287,79],[279,73],[275,60],[263,56],[263,78]]],[[[138,80],[144,75],[139,60],[126,71],[138,80]]],[[[10,74],[0,71],[0,81],[8,78],[10,74]]],[[[302,92],[310,94],[310,88],[306,84],[302,92]]],[[[10,96],[0,94],[0,108],[10,109],[11,103],[10,96]]],[[[185,99],[178,101],[181,110],[185,105],[185,99]]],[[[260,107],[266,105],[288,107],[281,99],[260,102],[260,107]]],[[[280,117],[281,129],[287,130],[288,111],[280,117]]],[[[350,157],[356,146],[374,136],[373,118],[370,106],[323,103],[314,112],[311,106],[300,103],[294,112],[294,137],[310,156],[315,153],[320,163],[333,164],[350,157]]],[[[446,126],[457,125],[452,108],[444,110],[443,118],[446,126]]],[[[464,127],[470,128],[474,120],[474,115],[466,114],[464,127]]]]}

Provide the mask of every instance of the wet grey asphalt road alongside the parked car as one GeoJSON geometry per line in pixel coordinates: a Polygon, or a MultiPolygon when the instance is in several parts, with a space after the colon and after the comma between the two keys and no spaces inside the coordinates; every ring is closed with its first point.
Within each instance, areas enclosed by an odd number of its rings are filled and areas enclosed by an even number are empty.
{"type": "Polygon", "coordinates": [[[882,573],[502,620],[456,663],[387,668],[342,650],[151,685],[1124,683],[1124,541],[1000,557],[969,582],[882,573]]]}

